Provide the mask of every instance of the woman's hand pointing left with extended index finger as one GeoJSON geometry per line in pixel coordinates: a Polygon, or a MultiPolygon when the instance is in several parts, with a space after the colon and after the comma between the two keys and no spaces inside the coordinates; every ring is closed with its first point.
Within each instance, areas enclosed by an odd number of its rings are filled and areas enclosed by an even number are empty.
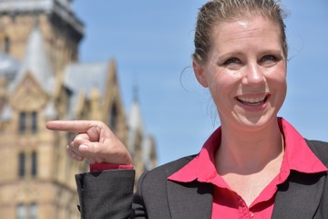
{"type": "Polygon", "coordinates": [[[77,133],[67,145],[68,154],[77,161],[132,165],[127,148],[102,121],[52,120],[46,122],[46,128],[77,133]]]}

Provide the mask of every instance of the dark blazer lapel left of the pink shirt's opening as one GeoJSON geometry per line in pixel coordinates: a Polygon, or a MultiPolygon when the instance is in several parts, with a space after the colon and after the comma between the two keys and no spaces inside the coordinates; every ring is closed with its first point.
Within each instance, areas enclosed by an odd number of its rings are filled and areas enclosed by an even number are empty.
{"type": "Polygon", "coordinates": [[[213,202],[210,183],[168,181],[167,188],[172,219],[210,219],[213,202]]]}

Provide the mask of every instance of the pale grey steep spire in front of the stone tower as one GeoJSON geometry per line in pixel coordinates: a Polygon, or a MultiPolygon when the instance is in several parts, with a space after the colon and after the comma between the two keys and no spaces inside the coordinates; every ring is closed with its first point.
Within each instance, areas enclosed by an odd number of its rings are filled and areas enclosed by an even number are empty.
{"type": "Polygon", "coordinates": [[[47,57],[44,39],[37,22],[28,38],[22,66],[18,71],[15,81],[10,87],[10,91],[18,86],[27,73],[31,73],[46,92],[52,91],[55,76],[50,60],[47,57]]]}

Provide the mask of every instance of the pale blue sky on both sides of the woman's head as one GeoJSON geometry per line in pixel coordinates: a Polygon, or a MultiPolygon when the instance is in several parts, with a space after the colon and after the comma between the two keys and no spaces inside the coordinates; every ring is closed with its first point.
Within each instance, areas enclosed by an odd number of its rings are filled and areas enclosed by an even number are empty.
{"type": "MultiPolygon", "coordinates": [[[[85,23],[80,62],[115,58],[128,110],[133,86],[159,164],[200,151],[220,122],[194,78],[190,55],[198,9],[206,1],[73,1],[85,23]]],[[[290,47],[288,93],[280,116],[308,139],[328,141],[328,1],[282,0],[290,47]],[[315,2],[315,3],[314,3],[315,2]]]]}

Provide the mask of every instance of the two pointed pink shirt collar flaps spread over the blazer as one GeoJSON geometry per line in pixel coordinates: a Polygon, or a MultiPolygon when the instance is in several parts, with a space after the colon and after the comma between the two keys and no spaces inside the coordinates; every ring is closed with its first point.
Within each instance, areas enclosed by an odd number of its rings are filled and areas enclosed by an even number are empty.
{"type": "MultiPolygon", "coordinates": [[[[307,146],[302,135],[295,130],[292,125],[282,118],[278,118],[280,128],[285,141],[285,153],[282,161],[282,172],[314,173],[327,172],[328,169],[323,165],[307,146]]],[[[194,180],[199,182],[209,182],[218,176],[215,168],[214,153],[220,146],[221,129],[218,128],[205,141],[200,153],[178,172],[169,176],[169,180],[180,183],[189,183],[194,180]]]]}

